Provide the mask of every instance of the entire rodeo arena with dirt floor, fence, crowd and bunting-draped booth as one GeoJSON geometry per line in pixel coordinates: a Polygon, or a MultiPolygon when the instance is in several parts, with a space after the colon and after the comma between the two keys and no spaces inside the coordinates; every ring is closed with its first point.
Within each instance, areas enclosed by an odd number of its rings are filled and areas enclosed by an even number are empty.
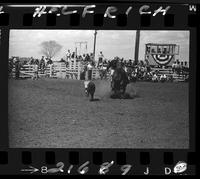
{"type": "Polygon", "coordinates": [[[9,59],[10,147],[189,146],[189,62],[179,45],[108,59],[75,42],[63,56],[9,59]]]}

